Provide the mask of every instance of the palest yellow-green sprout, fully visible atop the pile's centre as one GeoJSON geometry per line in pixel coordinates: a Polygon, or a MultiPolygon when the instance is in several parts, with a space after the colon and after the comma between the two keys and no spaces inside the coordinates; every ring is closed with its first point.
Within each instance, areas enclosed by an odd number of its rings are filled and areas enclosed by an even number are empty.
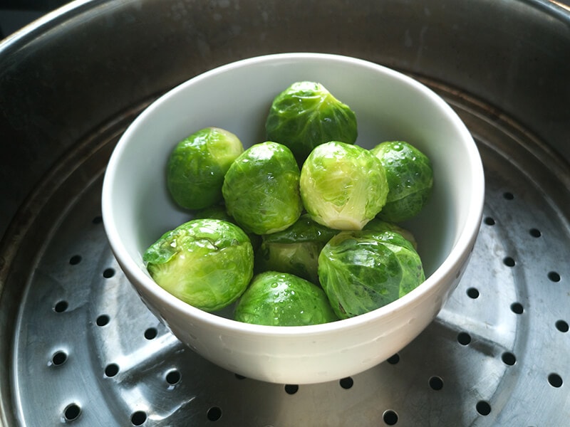
{"type": "Polygon", "coordinates": [[[301,199],[314,221],[361,230],[383,208],[388,182],[380,160],[358,145],[318,145],[301,168],[301,199]]]}

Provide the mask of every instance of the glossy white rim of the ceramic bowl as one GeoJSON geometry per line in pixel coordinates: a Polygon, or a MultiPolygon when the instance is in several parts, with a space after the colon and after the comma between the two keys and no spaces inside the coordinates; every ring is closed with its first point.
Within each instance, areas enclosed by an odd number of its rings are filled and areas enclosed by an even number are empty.
{"type": "MultiPolygon", "coordinates": [[[[455,271],[462,265],[462,261],[469,255],[472,251],[472,246],[475,243],[478,230],[480,228],[480,221],[482,218],[482,209],[484,204],[484,172],[482,167],[482,160],[480,158],[480,153],[475,144],[475,140],[472,138],[469,130],[462,122],[457,113],[452,110],[445,100],[437,95],[433,90],[427,88],[426,85],[420,83],[418,80],[411,78],[408,75],[400,73],[399,71],[393,70],[386,67],[385,65],[380,65],[378,63],[373,63],[370,60],[364,60],[361,58],[355,58],[351,56],[339,55],[336,53],[309,53],[309,52],[292,52],[292,53],[271,53],[262,56],[255,56],[252,58],[244,58],[241,60],[236,60],[232,63],[227,63],[224,65],[219,65],[215,68],[205,71],[199,75],[196,75],[189,80],[175,86],[174,88],[168,90],[166,93],[158,97],[154,102],[152,102],[148,107],[143,110],[138,117],[131,122],[127,130],[120,137],[118,143],[116,144],[113,152],[110,156],[107,169],[103,176],[103,190],[101,196],[101,208],[103,216],[103,225],[105,228],[105,233],[108,236],[108,241],[110,243],[111,250],[118,260],[120,267],[128,273],[127,276],[133,277],[138,285],[142,286],[146,292],[152,293],[158,299],[162,301],[162,304],[170,307],[172,310],[177,312],[184,312],[194,317],[197,321],[202,322],[202,324],[207,324],[209,327],[221,328],[227,332],[234,332],[237,334],[249,334],[251,336],[264,336],[264,337],[311,337],[311,336],[323,336],[325,334],[336,334],[338,332],[353,330],[355,328],[361,327],[363,325],[371,324],[376,322],[378,319],[383,318],[388,320],[392,317],[398,315],[399,312],[405,310],[405,307],[412,304],[414,300],[421,300],[422,296],[427,296],[432,292],[437,290],[437,283],[440,282],[446,275],[459,275],[462,272],[455,271]],[[150,115],[153,110],[160,108],[163,103],[175,93],[179,92],[181,89],[186,88],[188,85],[196,85],[201,80],[211,78],[214,75],[220,73],[227,73],[234,68],[241,68],[248,65],[254,65],[257,63],[266,63],[271,61],[291,61],[291,60],[321,60],[321,61],[338,61],[342,63],[353,63],[361,67],[373,68],[374,70],[380,71],[385,75],[389,75],[391,78],[396,78],[402,80],[404,83],[410,85],[414,90],[423,94],[425,97],[430,98],[432,102],[440,107],[442,112],[445,112],[447,119],[452,123],[455,131],[458,135],[461,135],[461,139],[465,141],[465,147],[469,151],[470,155],[468,157],[471,170],[474,172],[474,178],[472,180],[472,188],[470,189],[470,209],[465,218],[465,227],[462,228],[459,235],[453,243],[450,253],[447,255],[445,260],[437,266],[434,272],[425,279],[423,283],[418,285],[417,288],[408,292],[408,294],[403,297],[398,298],[393,302],[390,302],[383,307],[372,310],[371,312],[358,315],[356,317],[351,317],[348,319],[337,320],[335,322],[323,323],[320,325],[306,325],[306,326],[268,326],[268,325],[252,325],[244,322],[238,322],[237,320],[232,320],[227,317],[222,317],[214,313],[205,312],[192,305],[183,302],[174,295],[170,294],[163,288],[161,288],[157,283],[150,278],[145,272],[142,271],[140,265],[130,256],[127,249],[125,248],[123,242],[119,238],[116,223],[113,219],[113,181],[115,180],[115,174],[118,167],[118,160],[121,157],[123,149],[128,142],[130,134],[134,132],[135,128],[140,122],[145,120],[147,115],[150,115]]],[[[137,288],[132,280],[130,280],[131,285],[137,288]]],[[[139,292],[140,293],[140,292],[139,292]]],[[[144,298],[143,298],[144,299],[144,298]]]]}

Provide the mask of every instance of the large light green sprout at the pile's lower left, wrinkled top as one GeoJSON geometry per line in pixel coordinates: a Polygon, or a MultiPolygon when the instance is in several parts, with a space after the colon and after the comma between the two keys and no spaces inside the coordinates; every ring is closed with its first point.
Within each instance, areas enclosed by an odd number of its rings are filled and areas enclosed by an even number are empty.
{"type": "Polygon", "coordinates": [[[244,231],[218,219],[195,219],[167,231],[142,260],[160,287],[207,312],[237,300],[254,268],[252,243],[244,231]]]}

